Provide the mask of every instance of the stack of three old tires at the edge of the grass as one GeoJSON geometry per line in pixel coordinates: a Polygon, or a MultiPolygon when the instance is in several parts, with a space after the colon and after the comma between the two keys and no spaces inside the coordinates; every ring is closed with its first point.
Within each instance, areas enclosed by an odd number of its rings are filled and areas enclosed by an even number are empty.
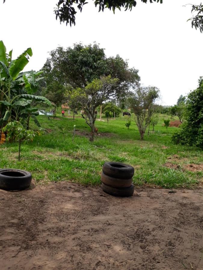
{"type": "Polygon", "coordinates": [[[134,193],[133,176],[132,166],[119,162],[105,162],[101,173],[101,187],[104,192],[113,196],[132,196],[134,193]]]}

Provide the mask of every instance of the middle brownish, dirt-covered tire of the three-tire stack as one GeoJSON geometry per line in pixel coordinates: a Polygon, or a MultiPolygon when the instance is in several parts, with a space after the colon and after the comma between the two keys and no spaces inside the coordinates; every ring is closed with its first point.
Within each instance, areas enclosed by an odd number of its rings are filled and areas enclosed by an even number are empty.
{"type": "Polygon", "coordinates": [[[119,179],[101,173],[101,182],[110,187],[130,187],[133,179],[119,179]]]}

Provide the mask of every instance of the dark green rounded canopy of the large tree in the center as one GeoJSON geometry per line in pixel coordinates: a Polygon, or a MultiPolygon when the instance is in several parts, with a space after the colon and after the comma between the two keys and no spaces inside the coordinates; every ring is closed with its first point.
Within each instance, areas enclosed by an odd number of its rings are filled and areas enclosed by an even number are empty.
{"type": "Polygon", "coordinates": [[[138,70],[128,67],[128,62],[119,55],[107,58],[98,44],[84,46],[74,44],[73,48],[58,47],[50,53],[45,65],[45,80],[49,85],[53,80],[72,88],[84,88],[94,79],[109,76],[119,79],[122,87],[139,82],[138,70]]]}

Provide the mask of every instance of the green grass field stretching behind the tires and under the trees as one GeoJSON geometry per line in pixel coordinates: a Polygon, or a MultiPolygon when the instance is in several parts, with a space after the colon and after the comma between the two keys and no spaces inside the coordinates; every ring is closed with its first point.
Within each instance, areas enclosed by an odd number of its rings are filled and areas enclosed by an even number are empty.
{"type": "MultiPolygon", "coordinates": [[[[172,144],[171,135],[177,128],[166,130],[162,125],[163,119],[167,118],[169,116],[160,115],[154,134],[150,131],[148,136],[146,131],[143,141],[140,141],[132,115],[129,130],[125,127],[127,116],[110,120],[109,125],[106,121],[96,121],[101,135],[94,142],[82,135],[75,135],[72,142],[73,125],[79,132],[89,132],[84,119],[75,118],[73,121],[59,117],[48,120],[45,116],[38,116],[42,128],[51,129],[51,133],[35,138],[32,143],[23,143],[21,161],[17,161],[17,143],[0,146],[0,167],[28,170],[36,184],[66,180],[97,185],[100,184],[103,163],[118,161],[135,167],[133,181],[136,186],[196,187],[202,179],[202,172],[190,172],[184,166],[202,163],[202,151],[197,147],[172,144]],[[59,127],[66,127],[65,139],[59,127]],[[174,160],[175,154],[179,156],[178,160],[174,160]],[[172,158],[168,160],[168,157],[172,158]],[[164,167],[168,161],[178,163],[179,169],[164,167]]],[[[33,123],[32,127],[35,128],[33,123]]]]}

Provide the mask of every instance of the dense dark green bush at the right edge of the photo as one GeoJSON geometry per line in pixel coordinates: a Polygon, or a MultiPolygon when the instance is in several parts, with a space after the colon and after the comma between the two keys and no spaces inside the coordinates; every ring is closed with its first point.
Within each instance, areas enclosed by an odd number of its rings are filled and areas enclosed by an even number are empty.
{"type": "Polygon", "coordinates": [[[203,148],[203,78],[199,79],[199,86],[189,93],[186,102],[186,122],[180,130],[172,136],[174,143],[182,145],[196,145],[203,148]]]}

